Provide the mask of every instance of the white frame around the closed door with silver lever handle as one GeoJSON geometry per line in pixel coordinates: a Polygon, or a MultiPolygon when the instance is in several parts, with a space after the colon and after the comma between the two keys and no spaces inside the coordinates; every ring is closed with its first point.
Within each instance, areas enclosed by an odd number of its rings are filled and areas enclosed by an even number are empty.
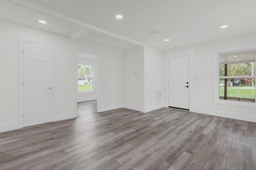
{"type": "Polygon", "coordinates": [[[56,116],[56,45],[34,42],[30,40],[24,40],[19,38],[19,126],[23,127],[23,42],[37,43],[40,45],[48,45],[53,47],[53,121],[56,116]]]}

